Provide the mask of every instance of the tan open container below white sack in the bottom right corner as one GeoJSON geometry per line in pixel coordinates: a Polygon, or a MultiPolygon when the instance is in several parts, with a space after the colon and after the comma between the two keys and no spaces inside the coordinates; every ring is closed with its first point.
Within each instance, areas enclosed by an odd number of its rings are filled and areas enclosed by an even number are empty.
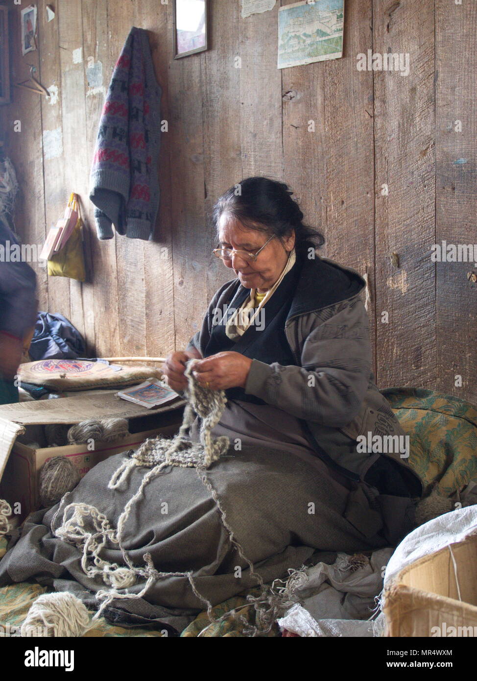
{"type": "Polygon", "coordinates": [[[471,535],[404,568],[384,593],[386,635],[477,636],[476,566],[471,535]]]}

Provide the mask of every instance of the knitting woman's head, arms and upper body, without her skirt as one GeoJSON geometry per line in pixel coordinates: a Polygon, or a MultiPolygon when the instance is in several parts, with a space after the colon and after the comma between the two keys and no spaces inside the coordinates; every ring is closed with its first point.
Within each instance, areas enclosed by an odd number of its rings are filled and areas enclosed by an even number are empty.
{"type": "Polygon", "coordinates": [[[200,358],[197,380],[229,398],[214,434],[325,462],[323,473],[346,488],[365,481],[399,497],[380,500],[386,531],[397,539],[406,530],[403,498],[420,496],[422,484],[373,382],[365,283],[316,255],[314,242],[323,239],[303,225],[284,183],[252,177],[240,189],[229,189],[213,210],[214,255],[236,278],[217,291],[186,350],[167,358],[169,385],[184,390],[186,362],[200,358]],[[380,453],[379,438],[393,451],[380,453]],[[363,439],[374,443],[371,451],[359,446],[363,439]]]}

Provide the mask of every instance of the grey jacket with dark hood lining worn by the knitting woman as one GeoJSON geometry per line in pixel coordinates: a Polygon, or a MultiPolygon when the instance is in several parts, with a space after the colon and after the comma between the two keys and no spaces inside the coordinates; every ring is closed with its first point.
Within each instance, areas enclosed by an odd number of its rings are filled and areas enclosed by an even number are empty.
{"type": "MultiPolygon", "coordinates": [[[[216,292],[188,349],[203,355],[214,310],[227,306],[239,286],[233,279],[216,292]]],[[[398,447],[406,443],[404,430],[374,383],[364,287],[358,272],[329,259],[316,255],[305,263],[284,328],[296,365],[252,360],[245,387],[247,394],[303,419],[329,463],[356,481],[382,455],[411,471],[409,449],[398,447]],[[360,436],[376,443],[374,452],[368,446],[359,451],[360,436]]]]}

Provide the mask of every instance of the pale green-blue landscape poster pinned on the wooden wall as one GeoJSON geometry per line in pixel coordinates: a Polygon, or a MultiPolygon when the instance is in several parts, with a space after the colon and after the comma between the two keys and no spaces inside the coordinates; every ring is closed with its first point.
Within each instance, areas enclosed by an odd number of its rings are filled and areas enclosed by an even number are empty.
{"type": "Polygon", "coordinates": [[[278,68],[342,57],[343,24],[344,0],[315,0],[280,7],[278,68]]]}

